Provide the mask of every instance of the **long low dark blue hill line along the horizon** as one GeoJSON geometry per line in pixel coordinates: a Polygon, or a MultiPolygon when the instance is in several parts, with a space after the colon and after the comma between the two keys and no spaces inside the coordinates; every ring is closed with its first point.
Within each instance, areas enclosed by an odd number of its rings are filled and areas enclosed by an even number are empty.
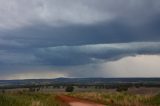
{"type": "Polygon", "coordinates": [[[157,83],[160,78],[55,78],[0,80],[0,86],[10,85],[44,85],[44,84],[110,84],[110,83],[157,83]]]}

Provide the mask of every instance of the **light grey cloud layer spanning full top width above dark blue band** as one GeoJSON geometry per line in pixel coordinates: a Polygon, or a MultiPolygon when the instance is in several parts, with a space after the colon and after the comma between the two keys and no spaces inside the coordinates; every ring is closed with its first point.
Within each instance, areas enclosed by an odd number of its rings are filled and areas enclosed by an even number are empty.
{"type": "Polygon", "coordinates": [[[159,0],[0,0],[0,28],[34,25],[88,25],[120,19],[129,24],[151,21],[159,0]]]}

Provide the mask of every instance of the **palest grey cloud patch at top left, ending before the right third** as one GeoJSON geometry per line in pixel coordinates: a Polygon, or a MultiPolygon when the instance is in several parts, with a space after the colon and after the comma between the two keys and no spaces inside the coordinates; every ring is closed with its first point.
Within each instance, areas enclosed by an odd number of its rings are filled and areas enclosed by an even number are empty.
{"type": "Polygon", "coordinates": [[[0,13],[5,13],[0,17],[0,27],[4,29],[34,24],[90,24],[109,17],[80,0],[1,0],[0,4],[0,13]]]}

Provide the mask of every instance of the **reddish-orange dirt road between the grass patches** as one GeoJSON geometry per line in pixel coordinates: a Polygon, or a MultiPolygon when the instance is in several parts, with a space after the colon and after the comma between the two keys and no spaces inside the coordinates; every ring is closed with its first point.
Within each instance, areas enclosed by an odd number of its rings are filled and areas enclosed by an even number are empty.
{"type": "Polygon", "coordinates": [[[59,95],[57,96],[57,99],[69,106],[105,106],[102,104],[94,103],[88,100],[82,100],[66,95],[59,95]]]}

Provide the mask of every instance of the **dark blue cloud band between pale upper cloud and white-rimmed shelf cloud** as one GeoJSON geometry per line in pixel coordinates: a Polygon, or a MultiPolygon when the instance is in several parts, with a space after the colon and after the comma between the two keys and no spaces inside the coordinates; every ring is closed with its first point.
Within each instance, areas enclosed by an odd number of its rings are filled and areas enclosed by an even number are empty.
{"type": "MultiPolygon", "coordinates": [[[[160,40],[160,20],[139,26],[130,26],[120,21],[96,25],[72,25],[67,27],[34,26],[3,33],[6,42],[16,42],[19,47],[50,47],[160,40]],[[20,46],[20,44],[22,46],[20,46]]],[[[13,46],[14,46],[13,45],[13,46]]]]}

